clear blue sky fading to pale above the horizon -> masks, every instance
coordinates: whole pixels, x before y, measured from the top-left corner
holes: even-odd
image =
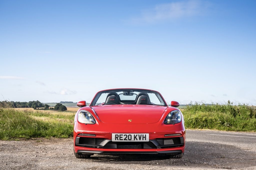
[[[167,102],[256,105],[256,1],[0,0],[0,100],[90,102],[145,88]]]

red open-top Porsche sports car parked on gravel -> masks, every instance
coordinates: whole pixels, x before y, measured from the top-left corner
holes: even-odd
[[[181,158],[185,150],[184,117],[162,95],[146,89],[99,91],[74,118],[74,154],[89,158],[100,153],[166,154]]]

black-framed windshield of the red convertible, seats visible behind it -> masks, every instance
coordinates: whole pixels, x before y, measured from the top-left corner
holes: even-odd
[[[140,89],[119,89],[101,91],[96,94],[91,106],[116,104],[165,106],[165,102],[158,92]]]

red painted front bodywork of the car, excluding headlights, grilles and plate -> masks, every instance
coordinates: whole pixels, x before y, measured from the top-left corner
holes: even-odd
[[[178,102],[174,104],[177,105],[177,103]],[[77,114],[80,110],[89,111],[94,117],[96,123],[86,125],[78,122]],[[111,139],[112,133],[149,133],[150,140],[156,138],[170,138],[164,137],[164,135],[180,133],[182,134],[182,137],[184,137],[185,142],[183,115],[180,123],[174,125],[164,124],[164,119],[173,110],[179,109],[172,106],[168,107],[158,105],[98,105],[82,107],[78,110],[74,118],[74,143],[79,133],[95,134],[97,138],[104,139]],[[131,119],[132,122],[129,122],[129,119]],[[183,147],[164,149],[98,149],[78,147],[74,145],[74,150],[75,152],[78,150],[111,152],[155,152],[182,150],[182,152],[184,152],[185,144]]]

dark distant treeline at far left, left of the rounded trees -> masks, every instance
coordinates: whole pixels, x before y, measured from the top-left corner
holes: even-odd
[[[29,101],[29,102],[14,102],[14,101],[0,101],[0,106],[2,107],[11,107],[11,108],[38,108],[45,107],[44,104],[37,101]]]

